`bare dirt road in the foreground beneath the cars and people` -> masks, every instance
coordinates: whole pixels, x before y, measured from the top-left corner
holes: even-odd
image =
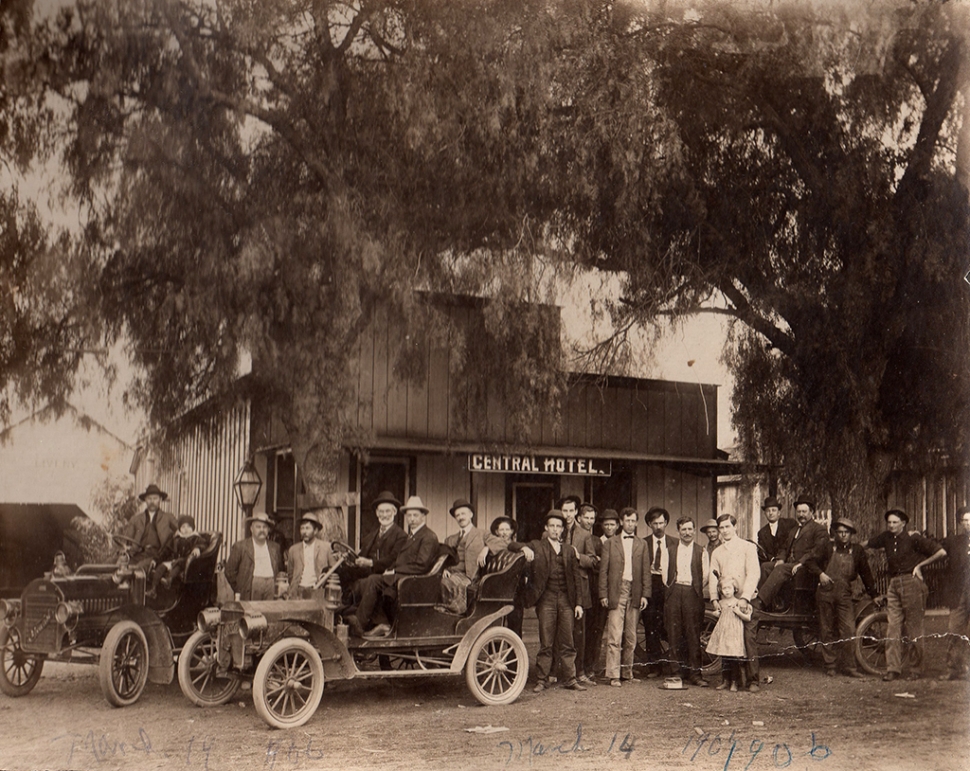
[[[931,619],[930,631],[942,623]],[[0,768],[970,769],[970,684],[937,681],[943,641],[927,648],[926,677],[893,683],[828,678],[776,650],[762,665],[773,682],[758,694],[663,691],[644,680],[578,694],[530,688],[515,704],[486,708],[462,678],[337,682],[313,719],[289,732],[268,728],[248,691],[203,710],[176,683],[150,685],[119,710],[102,698],[94,668],[48,666],[28,696],[0,696]],[[468,730],[489,726],[505,730]]]

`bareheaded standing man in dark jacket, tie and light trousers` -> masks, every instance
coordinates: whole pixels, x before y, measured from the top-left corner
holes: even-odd
[[[633,676],[633,649],[637,623],[650,599],[650,561],[647,545],[637,538],[640,515],[633,508],[621,512],[621,531],[609,538],[601,551],[600,605],[608,611],[606,677],[619,688],[621,680],[637,683]]]

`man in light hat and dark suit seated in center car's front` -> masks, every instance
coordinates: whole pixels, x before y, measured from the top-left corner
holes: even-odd
[[[428,522],[428,509],[417,495],[408,498],[401,511],[408,527],[407,540],[394,560],[394,564],[380,574],[370,575],[363,581],[360,604],[356,615],[347,616],[350,631],[358,637],[386,637],[390,624],[380,623],[367,631],[374,615],[384,600],[397,598],[397,582],[401,576],[419,576],[427,573],[438,557],[438,536]]]

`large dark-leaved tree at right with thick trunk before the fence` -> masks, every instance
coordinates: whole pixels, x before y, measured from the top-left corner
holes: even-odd
[[[621,323],[736,319],[746,457],[784,465],[836,513],[874,518],[894,466],[968,450],[965,16],[888,3],[681,11],[614,16],[577,107],[617,116],[591,151],[608,182],[569,225],[592,264],[625,275]],[[624,89],[649,94],[659,136],[643,135]]]

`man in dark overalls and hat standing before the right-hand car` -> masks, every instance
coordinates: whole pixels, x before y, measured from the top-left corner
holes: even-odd
[[[835,548],[818,577],[815,600],[818,604],[818,626],[822,638],[822,659],[825,673],[835,676],[836,668],[849,677],[862,677],[855,665],[852,638],[855,636],[855,606],[852,583],[861,578],[869,596],[879,593],[872,577],[866,550],[852,543],[855,523],[840,517],[832,524]]]

